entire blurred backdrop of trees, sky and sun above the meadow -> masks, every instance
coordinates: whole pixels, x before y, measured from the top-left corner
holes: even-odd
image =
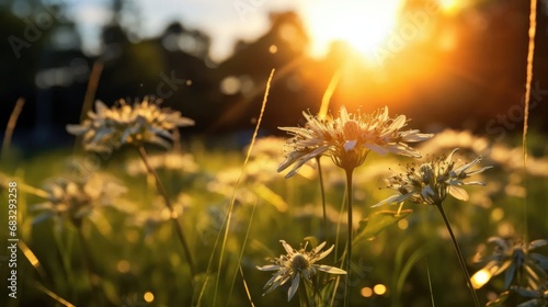
[[[388,105],[423,130],[499,140],[522,129],[527,1],[391,1],[391,16],[388,4],[355,1],[156,2],[1,1],[0,128],[23,96],[14,144],[70,144],[65,126],[80,118],[95,64],[95,99],[160,96],[196,121],[191,134],[252,129],[272,68],[265,134],[318,112],[335,75],[331,110]],[[544,132],[547,5],[538,3],[530,117]]]

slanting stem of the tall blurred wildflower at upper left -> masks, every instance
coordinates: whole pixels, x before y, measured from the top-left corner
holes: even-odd
[[[173,221],[173,226],[175,227],[175,231],[176,231],[176,235],[179,236],[179,240],[180,240],[181,245],[183,246],[183,250],[184,250],[184,254],[186,257],[186,261],[189,261],[189,266],[190,266],[190,270],[191,270],[192,281],[194,281],[194,276],[196,276],[196,270],[195,270],[195,266],[194,266],[194,262],[192,261],[191,249],[189,248],[189,243],[186,241],[186,238],[184,237],[183,228],[181,227],[181,224],[179,224],[178,214],[176,214],[175,209],[173,208],[173,205],[171,204],[170,198],[168,197],[168,193],[165,192],[165,187],[163,187],[163,184],[162,184],[162,182],[160,180],[160,177],[158,177],[158,173],[150,166],[150,163],[148,161],[148,156],[147,156],[147,151],[145,150],[145,147],[139,146],[137,149],[138,149],[139,155],[140,155],[140,157],[142,159],[142,162],[145,162],[145,166],[147,167],[147,171],[151,175],[155,177],[156,187],[157,187],[158,192],[160,193],[160,195],[163,197],[163,200],[165,202],[165,206],[170,211],[171,220]]]

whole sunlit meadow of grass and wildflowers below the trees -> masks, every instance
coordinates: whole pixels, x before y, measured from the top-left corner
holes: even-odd
[[[473,306],[442,202],[469,275],[486,269],[472,278],[481,284],[475,291],[481,306],[548,306],[540,133],[529,133],[524,171],[520,136],[493,141],[447,129],[401,147],[413,130],[400,132],[406,118],[383,118],[381,111],[309,114],[287,137],[254,136],[246,148],[224,148],[181,138],[192,121],[161,104],[132,121],[101,120],[102,107],[83,129],[68,128],[78,136],[75,148],[23,160],[14,149],[4,158],[2,202],[16,187],[20,241],[18,299],[2,296],[2,306]],[[357,125],[361,134],[349,138],[336,123]],[[395,138],[373,141],[365,132],[378,126]],[[330,133],[324,151],[315,151],[322,134],[311,132]],[[306,146],[297,148],[299,141]],[[296,161],[301,167],[292,169]],[[419,190],[397,185],[398,178]],[[373,207],[395,192],[403,197]],[[0,234],[8,238],[7,228]],[[272,262],[278,268],[265,266]],[[269,284],[281,270],[288,277]]]

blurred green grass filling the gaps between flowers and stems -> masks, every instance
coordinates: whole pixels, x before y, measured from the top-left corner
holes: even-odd
[[[529,141],[534,141],[532,148],[536,152],[544,146],[541,137],[532,136]],[[239,265],[255,306],[298,306],[298,298],[287,303],[287,287],[284,286],[263,297],[263,285],[271,275],[258,271],[255,266],[267,264],[265,259],[269,257],[285,253],[278,242],[281,239],[298,248],[306,237],[322,236],[322,208],[317,174],[312,169],[308,170],[312,178],[296,175],[284,179],[276,173],[275,168],[283,159],[283,148],[277,148],[278,160],[272,156],[256,156],[256,152],[251,155],[244,180],[236,191],[224,264],[217,275],[219,249],[213,249],[236,183],[235,175],[227,174],[241,170],[244,152],[206,149],[199,141],[187,148],[186,154],[192,154],[197,169],[159,169],[159,175],[170,198],[184,207],[180,221],[199,272],[194,282],[190,278],[190,268],[171,223],[165,220],[152,225],[136,221],[136,217],[161,216],[161,213],[151,212],[153,203],[159,202],[153,183],[146,174],[130,175],[125,168],[129,160],[138,159],[137,152],[117,151],[112,157],[100,160],[100,170],[115,175],[128,189],[124,200],[116,204],[118,208],[100,208],[93,218],[85,218],[82,226],[83,237],[90,247],[88,258],[101,280],[99,295],[104,296],[103,303],[147,306],[144,295],[150,292],[155,297],[150,306],[191,306],[198,298],[206,280],[208,261],[215,252],[202,306],[212,306],[215,295],[217,306],[250,306],[242,275],[238,273]],[[450,149],[444,152],[448,151]],[[159,152],[162,151],[151,156]],[[76,228],[67,221],[56,224],[54,220],[32,225],[38,213],[31,207],[44,200],[22,187],[23,183],[42,187],[45,180],[66,174],[66,166],[72,159],[70,150],[60,150],[24,161],[12,158],[10,163],[2,164],[2,172],[14,178],[12,180],[20,186],[19,238],[25,241],[45,272],[41,276],[20,250],[19,298],[13,300],[2,296],[2,306],[59,306],[43,289],[37,288],[35,283],[77,306],[102,306],[89,285]],[[399,171],[397,164],[404,164],[407,161],[409,160],[372,154],[365,164],[356,169],[354,212],[361,216],[358,220],[375,211],[397,209],[396,206],[376,209],[370,206],[390,195],[389,191],[378,189],[385,186],[384,178],[390,174],[388,167]],[[467,189],[471,195],[470,202],[444,202],[448,219],[468,260],[470,273],[481,268],[475,266],[469,260],[477,247],[483,245],[489,237],[512,234],[513,229],[514,235],[526,235],[529,240],[534,240],[546,238],[548,229],[548,178],[529,175],[527,179],[528,225],[524,229],[524,200],[509,195],[506,187],[520,186],[520,181],[516,181],[516,175],[509,171],[507,166],[495,164],[486,157],[482,164],[489,163],[493,163],[495,168],[484,172],[483,180],[488,186]],[[322,161],[329,216],[327,241],[328,247],[335,243],[339,235],[336,249],[340,258],[346,241],[346,226],[341,225],[340,232],[336,231],[338,220],[346,220],[345,212],[339,218],[339,211],[344,202],[344,172],[331,164],[328,159]],[[5,190],[2,190],[1,197],[7,200]],[[161,205],[158,207],[162,208]],[[406,204],[403,207],[413,209],[413,213],[402,223],[387,227],[374,238],[363,240],[353,248],[351,306],[413,307],[431,306],[432,302],[437,306],[470,306],[470,295],[439,213],[435,207],[423,205]],[[1,225],[8,225],[3,213]],[[0,230],[2,237],[8,235],[4,228],[2,226]],[[217,247],[220,247],[220,241]],[[546,250],[543,251],[546,253]],[[335,262],[334,257],[332,253],[321,263],[340,266],[340,261]],[[3,262],[1,264],[0,275],[4,283],[3,276],[7,276],[8,269]],[[215,294],[217,281],[218,292]],[[373,288],[377,284],[386,285],[387,293],[373,294],[372,297],[361,295],[363,288]],[[502,292],[502,284],[503,276],[493,277],[491,283],[478,291],[480,302],[484,304],[488,295]],[[233,291],[230,292],[232,287]],[[343,288],[339,292],[343,293]],[[342,304],[341,295],[336,295],[335,306]]]

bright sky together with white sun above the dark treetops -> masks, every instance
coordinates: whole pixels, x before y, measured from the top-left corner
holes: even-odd
[[[84,37],[84,50],[99,52],[101,26],[112,20],[111,0],[52,0],[68,4]],[[442,0],[439,0],[442,1]],[[443,0],[456,1],[456,0]],[[370,52],[395,26],[402,0],[133,0],[136,8],[123,18],[138,38],[157,36],[170,23],[180,21],[189,30],[212,37],[210,57],[230,56],[238,39],[253,41],[270,27],[269,13],[293,10],[311,34],[310,54],[321,57],[334,39],[354,43]]]

